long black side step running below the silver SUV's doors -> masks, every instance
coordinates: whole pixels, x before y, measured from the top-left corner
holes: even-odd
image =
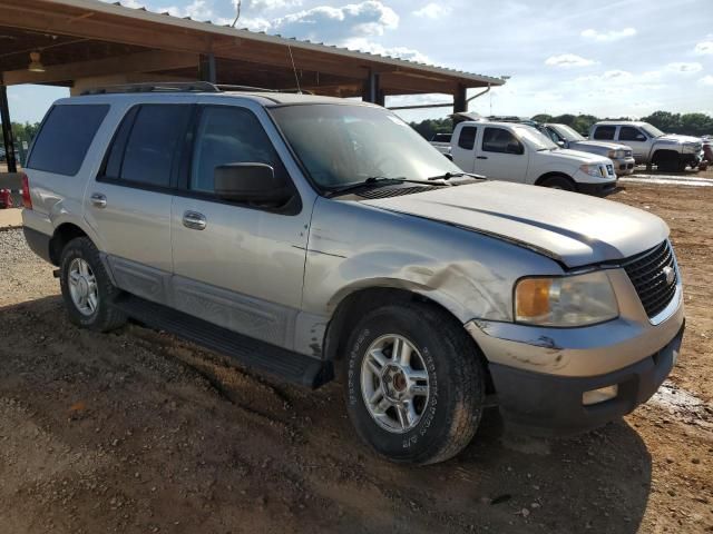
[[[113,306],[152,328],[169,332],[293,384],[315,389],[334,378],[331,362],[276,347],[140,297],[123,295]]]

